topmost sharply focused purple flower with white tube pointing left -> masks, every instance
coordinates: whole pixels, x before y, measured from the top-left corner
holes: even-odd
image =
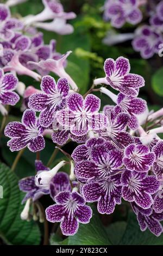
[[[104,78],[94,80],[95,84],[105,83],[120,91],[124,95],[138,95],[138,89],[145,86],[142,76],[131,74],[129,60],[124,57],[106,59],[104,63]]]

